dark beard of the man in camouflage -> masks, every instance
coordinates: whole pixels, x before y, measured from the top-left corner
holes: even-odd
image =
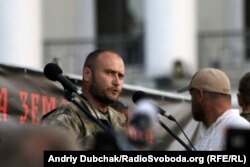
[[[105,92],[105,87],[103,87],[103,84],[98,82],[96,77],[93,75],[91,84],[90,84],[90,93],[92,94],[93,98],[97,101],[110,105],[114,103],[118,97],[109,97]]]

